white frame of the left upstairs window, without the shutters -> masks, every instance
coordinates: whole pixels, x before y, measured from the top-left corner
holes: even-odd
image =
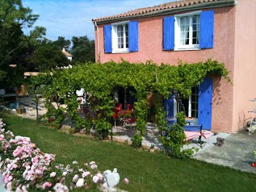
[[[129,52],[129,48],[125,48],[126,46],[125,27],[124,27],[124,48],[118,48],[118,36],[117,36],[117,26],[119,25],[125,26],[128,23],[129,21],[112,24],[112,53]]]

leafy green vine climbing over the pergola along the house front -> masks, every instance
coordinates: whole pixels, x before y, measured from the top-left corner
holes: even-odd
[[[113,98],[111,93],[115,87],[134,87],[136,90],[136,141],[135,146],[140,146],[141,138],[145,134],[147,121],[147,97],[149,92],[158,95],[158,98],[168,98],[170,90],[176,90],[187,98],[191,94],[191,87],[198,86],[204,77],[215,74],[228,77],[228,71],[223,63],[208,60],[195,64],[187,64],[179,61],[178,65],[156,65],[152,61],[144,63],[129,63],[110,61],[104,64],[88,63],[75,65],[73,69],[61,69],[52,71],[51,75],[41,81],[47,84],[48,116],[51,115],[50,102],[53,98],[61,98],[67,107],[58,108],[58,111],[68,113],[77,127],[85,127],[94,124],[96,131],[104,136],[111,127],[111,115],[113,115]],[[50,76],[50,77],[49,77]],[[50,81],[48,81],[50,79]],[[94,118],[82,119],[76,112],[79,102],[76,90],[84,88],[91,97],[86,98],[90,102],[90,111],[94,112]],[[166,127],[165,115],[162,110],[161,99],[157,100],[157,126]],[[62,113],[62,114],[63,114]],[[55,115],[59,114],[55,111]],[[63,119],[61,117],[60,119]],[[90,127],[89,127],[90,128]],[[139,140],[139,142],[137,142]],[[134,142],[135,143],[135,142]]]

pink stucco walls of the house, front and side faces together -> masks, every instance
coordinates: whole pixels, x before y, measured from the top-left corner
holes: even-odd
[[[246,20],[246,3],[250,0],[239,0],[237,6],[216,8],[214,15],[214,48],[197,51],[163,51],[162,50],[162,19],[163,16],[137,19],[139,21],[139,52],[105,54],[103,46],[103,25],[99,25],[99,58],[100,62],[120,61],[121,58],[130,62],[145,62],[152,60],[157,64],[177,65],[178,60],[187,63],[207,61],[209,58],[225,63],[230,71],[229,77],[233,85],[224,78],[213,78],[213,98],[212,98],[212,131],[234,132],[244,125],[248,118],[246,112],[252,106],[248,103],[249,98],[256,98],[256,93],[248,90],[252,89],[253,74],[251,67],[255,61],[255,38],[252,39],[255,31],[253,28],[244,28],[251,25],[256,18],[255,6],[250,6],[250,20]],[[253,1],[254,2],[254,1]],[[256,2],[256,1],[255,1]],[[251,3],[253,4],[253,3]],[[255,3],[254,3],[255,4]],[[242,16],[240,16],[242,15]],[[235,20],[237,19],[237,20]],[[95,37],[96,35],[95,28]],[[255,35],[255,34],[254,34]],[[97,56],[97,38],[96,58]],[[252,42],[254,40],[254,43]],[[235,43],[236,42],[236,43]],[[248,51],[250,44],[251,50]],[[236,56],[235,56],[236,54]],[[234,68],[236,68],[234,70]],[[256,69],[253,67],[254,70]],[[241,73],[244,72],[244,73]],[[249,74],[250,75],[247,75]],[[246,92],[246,94],[245,94]],[[255,115],[256,116],[256,115]],[[241,121],[243,123],[241,123]]]

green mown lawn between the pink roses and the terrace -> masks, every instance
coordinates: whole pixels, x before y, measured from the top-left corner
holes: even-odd
[[[99,170],[117,168],[120,180],[128,177],[128,191],[256,191],[256,175],[193,159],[178,160],[162,152],[134,149],[90,136],[72,136],[36,121],[0,112],[6,129],[29,136],[43,152],[56,154],[57,162],[96,161]]]

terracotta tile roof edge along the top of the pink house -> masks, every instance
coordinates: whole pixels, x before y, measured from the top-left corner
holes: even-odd
[[[166,2],[164,4],[158,5],[158,6],[149,6],[145,8],[140,8],[136,10],[129,10],[128,12],[119,14],[119,15],[111,15],[101,18],[92,19],[93,22],[97,21],[103,21],[108,19],[119,19],[119,18],[125,18],[130,16],[139,16],[139,15],[145,15],[149,12],[157,11],[157,10],[171,10],[174,8],[185,8],[187,6],[193,6],[195,4],[200,3],[210,3],[210,2],[231,2],[235,3],[235,0],[181,0],[176,2]]]

